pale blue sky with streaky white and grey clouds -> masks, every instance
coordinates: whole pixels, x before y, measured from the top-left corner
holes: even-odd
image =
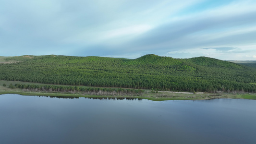
[[[256,0],[0,0],[0,56],[256,60]]]

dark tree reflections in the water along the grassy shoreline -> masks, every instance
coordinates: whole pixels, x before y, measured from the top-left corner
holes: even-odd
[[[40,97],[40,96],[38,96]],[[79,96],[44,96],[50,98],[66,98],[66,99],[78,99]],[[88,99],[99,99],[99,100],[142,100],[142,98],[135,98],[135,97],[85,97]]]

